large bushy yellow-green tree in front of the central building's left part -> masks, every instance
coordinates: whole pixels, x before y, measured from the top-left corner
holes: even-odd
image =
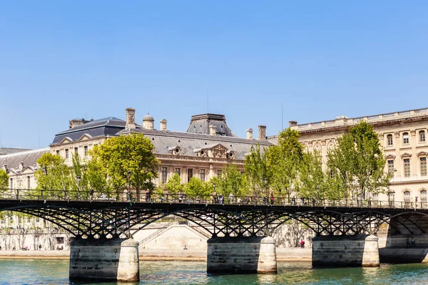
[[[95,175],[93,172],[98,169],[101,172],[98,178],[105,177],[108,188],[116,195],[125,190],[129,182],[136,189],[137,199],[140,199],[141,190],[158,177],[159,161],[153,150],[153,143],[143,134],[110,138],[90,152],[89,165],[95,168],[91,169],[91,175]]]

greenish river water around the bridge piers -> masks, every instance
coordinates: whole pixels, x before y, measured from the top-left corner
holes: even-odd
[[[310,263],[279,262],[278,274],[208,275],[205,262],[141,261],[135,284],[428,284],[428,264],[377,268],[313,269]],[[91,284],[68,281],[66,260],[0,260],[0,284]],[[113,283],[97,283],[119,284]],[[130,284],[130,283],[124,283]],[[133,285],[133,283],[131,283]]]

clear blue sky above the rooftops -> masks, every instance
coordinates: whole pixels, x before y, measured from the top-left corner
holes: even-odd
[[[126,3],[123,3],[126,2]],[[3,146],[136,108],[236,135],[427,108],[428,1],[2,1]],[[257,132],[255,132],[257,135]],[[40,139],[39,139],[40,138]]]

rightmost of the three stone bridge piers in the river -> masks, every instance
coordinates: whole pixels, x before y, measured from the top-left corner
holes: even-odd
[[[314,237],[312,266],[379,266],[377,237],[367,234]]]

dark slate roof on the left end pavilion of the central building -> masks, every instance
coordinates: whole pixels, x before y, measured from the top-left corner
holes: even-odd
[[[125,128],[126,121],[116,117],[92,120],[89,123],[78,125],[72,129],[64,130],[55,135],[51,145],[60,143],[64,138],[71,141],[80,139],[83,135],[90,135],[91,138],[116,135]]]

